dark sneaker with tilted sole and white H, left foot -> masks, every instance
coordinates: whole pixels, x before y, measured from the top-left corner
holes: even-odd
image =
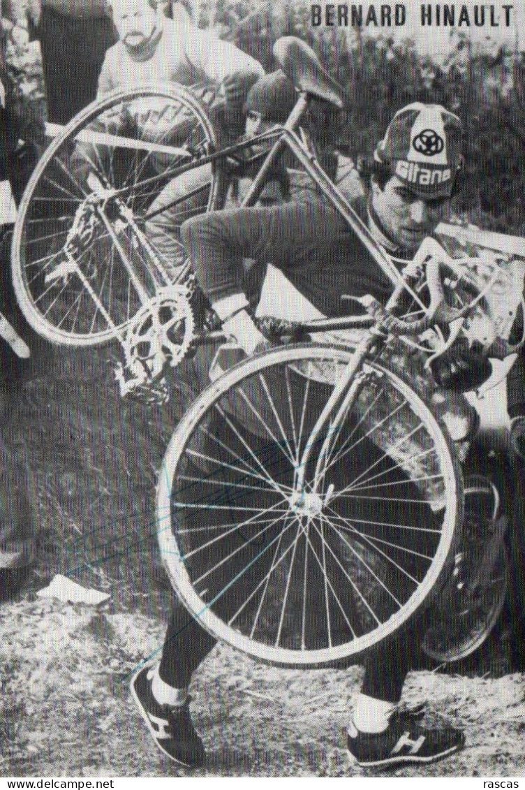
[[[204,763],[202,741],[189,715],[189,700],[184,705],[160,705],[152,693],[153,668],[146,666],[133,675],[129,687],[141,717],[160,751],[186,768]]]

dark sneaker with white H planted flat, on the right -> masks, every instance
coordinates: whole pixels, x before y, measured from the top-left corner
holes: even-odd
[[[463,747],[463,732],[452,727],[426,730],[411,713],[393,713],[383,732],[348,728],[348,752],[359,766],[395,766],[400,762],[433,762]]]

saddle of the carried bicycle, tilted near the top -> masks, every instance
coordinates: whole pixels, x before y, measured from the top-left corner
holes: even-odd
[[[284,36],[273,45],[273,55],[299,90],[341,109],[342,88],[327,74],[311,47],[295,36]]]

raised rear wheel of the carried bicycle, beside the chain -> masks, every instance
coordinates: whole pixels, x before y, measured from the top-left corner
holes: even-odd
[[[215,145],[201,105],[182,88],[119,93],[66,126],[28,183],[13,235],[13,281],[37,332],[64,344],[103,342],[158,287],[184,276],[177,226],[214,207],[211,167],[178,202],[169,234],[155,201],[165,174]]]

